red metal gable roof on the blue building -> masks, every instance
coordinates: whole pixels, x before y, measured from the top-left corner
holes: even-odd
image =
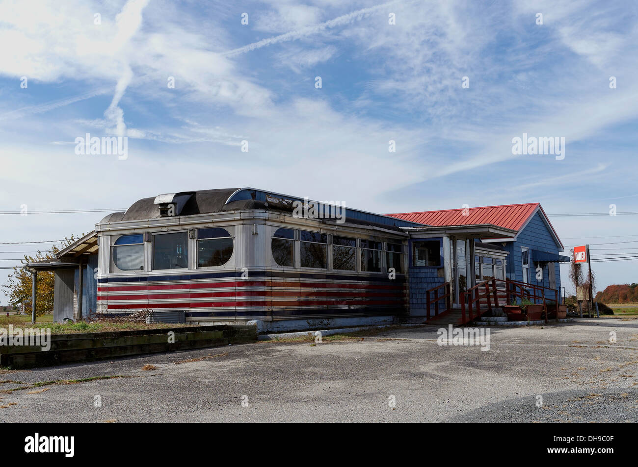
[[[520,233],[537,212],[540,213],[540,217],[547,226],[547,230],[551,236],[553,236],[554,241],[556,241],[556,245],[558,245],[561,250],[565,249],[560,238],[558,238],[558,234],[556,234],[554,227],[551,222],[549,222],[549,219],[547,219],[547,215],[545,214],[542,206],[540,206],[540,203],[480,206],[477,208],[468,208],[467,210],[460,208],[441,211],[406,212],[389,214],[389,216],[436,227],[493,224],[494,226],[503,227],[504,229],[512,229]],[[516,237],[508,240],[516,240]],[[498,241],[501,241],[501,239],[498,239]]]

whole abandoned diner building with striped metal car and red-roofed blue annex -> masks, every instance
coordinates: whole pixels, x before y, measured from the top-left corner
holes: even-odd
[[[144,198],[25,267],[54,272],[56,322],[151,310],[260,332],[450,313],[463,324],[516,294],[562,301],[558,263],[570,258],[538,203],[392,215],[325,205],[323,216],[299,215],[300,203],[323,206],[252,188]]]

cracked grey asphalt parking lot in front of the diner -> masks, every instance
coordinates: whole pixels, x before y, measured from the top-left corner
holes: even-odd
[[[487,351],[437,337],[413,327],[2,371],[0,421],[638,421],[638,320],[491,327]]]

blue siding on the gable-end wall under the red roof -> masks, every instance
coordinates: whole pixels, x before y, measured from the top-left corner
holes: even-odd
[[[554,241],[549,228],[545,225],[540,214],[537,212],[528,222],[527,226],[518,234],[516,241],[506,243],[505,250],[509,252],[507,256],[507,277],[513,280],[523,280],[523,258],[521,247],[530,248],[530,284],[549,287],[549,274],[547,267],[553,267],[556,271],[556,289],[560,290],[560,268],[557,263],[549,263],[543,266],[543,279],[536,279],[536,268],[534,255],[531,250],[540,250],[558,254],[558,245]],[[551,296],[550,296],[551,295]],[[554,294],[547,294],[549,299],[554,299]]]

